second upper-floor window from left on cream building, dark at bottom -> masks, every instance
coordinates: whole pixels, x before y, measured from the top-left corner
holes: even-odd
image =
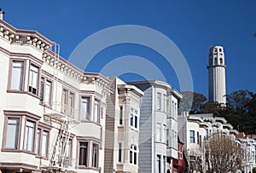
[[[37,66],[30,66],[28,91],[34,95],[38,94],[38,71],[39,68]]]

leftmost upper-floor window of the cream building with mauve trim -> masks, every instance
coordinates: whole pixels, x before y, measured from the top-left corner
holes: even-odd
[[[23,61],[13,61],[10,89],[22,90],[23,68],[24,68]]]

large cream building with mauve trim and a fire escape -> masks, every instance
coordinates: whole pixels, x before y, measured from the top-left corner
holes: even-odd
[[[0,20],[3,173],[104,170],[109,79],[81,71],[58,48]]]

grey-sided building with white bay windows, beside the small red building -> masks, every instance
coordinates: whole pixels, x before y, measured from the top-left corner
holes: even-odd
[[[139,121],[138,172],[172,172],[177,159],[177,104],[182,95],[158,80],[128,84],[143,90]]]

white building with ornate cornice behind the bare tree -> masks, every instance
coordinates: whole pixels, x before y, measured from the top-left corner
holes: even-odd
[[[203,151],[203,139],[216,134],[225,134],[236,140],[237,130],[225,118],[213,117],[212,113],[178,115],[178,136],[184,143],[185,155],[189,159],[189,170],[195,170],[197,156]]]

